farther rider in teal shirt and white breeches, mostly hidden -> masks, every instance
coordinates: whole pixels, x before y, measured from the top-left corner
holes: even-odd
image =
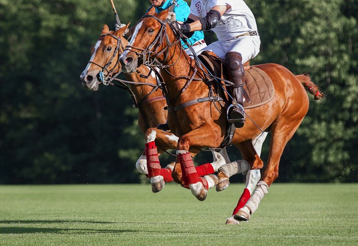
[[[152,3],[152,6],[155,7],[155,11],[157,13],[170,8],[174,3],[174,9],[170,11],[175,13],[175,19],[180,24],[185,23],[188,19],[188,15],[190,14],[190,7],[184,0],[150,0],[150,2]],[[187,42],[191,45],[195,52],[206,47],[203,31],[194,32],[193,35],[187,39]],[[189,47],[183,41],[181,41],[181,45],[187,54],[192,54]]]

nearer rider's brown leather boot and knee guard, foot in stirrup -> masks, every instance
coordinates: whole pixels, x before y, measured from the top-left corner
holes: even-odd
[[[233,83],[230,86],[234,100],[228,108],[228,122],[234,123],[236,128],[240,128],[245,122],[244,111],[244,84],[245,84],[245,70],[242,64],[241,54],[230,51],[225,55],[225,61],[228,68],[230,80]]]

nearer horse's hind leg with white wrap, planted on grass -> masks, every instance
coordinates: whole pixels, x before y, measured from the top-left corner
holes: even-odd
[[[292,138],[293,134],[296,132],[305,114],[303,114],[302,117],[300,116],[302,116],[300,112],[298,112],[296,117],[283,118],[281,116],[281,119],[277,119],[276,122],[272,125],[267,166],[263,171],[261,181],[257,183],[257,187],[253,195],[234,215],[235,220],[249,221],[250,216],[255,213],[264,195],[268,193],[269,186],[279,176],[280,158],[283,149],[287,142]]]

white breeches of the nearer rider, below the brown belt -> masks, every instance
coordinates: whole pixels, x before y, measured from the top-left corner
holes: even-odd
[[[254,58],[260,51],[259,36],[242,36],[230,41],[216,41],[206,46],[204,50],[213,51],[217,56],[225,59],[226,53],[230,51],[239,52],[242,56],[242,63]]]

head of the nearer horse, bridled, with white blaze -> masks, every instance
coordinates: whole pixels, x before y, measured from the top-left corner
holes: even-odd
[[[166,23],[168,13],[169,9],[155,13],[155,8],[152,7],[138,21],[129,45],[120,57],[123,72],[133,73],[142,64],[153,67],[158,61],[163,62],[163,57],[168,57],[164,53],[168,52],[168,47],[173,46],[170,40],[175,40]],[[174,43],[180,43],[180,39],[177,38]]]

